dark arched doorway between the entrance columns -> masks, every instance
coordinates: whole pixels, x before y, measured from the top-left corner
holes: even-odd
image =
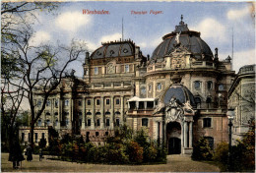
[[[166,127],[168,154],[181,153],[181,126],[178,122],[169,122]]]

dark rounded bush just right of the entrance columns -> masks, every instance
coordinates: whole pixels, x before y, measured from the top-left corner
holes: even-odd
[[[194,160],[212,160],[213,150],[209,146],[209,142],[201,138],[193,146],[192,159]]]

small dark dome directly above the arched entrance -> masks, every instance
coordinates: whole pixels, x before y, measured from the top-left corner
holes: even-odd
[[[191,106],[196,106],[193,94],[183,85],[173,84],[171,87],[167,88],[163,93],[163,103],[168,104],[172,97],[175,97],[181,103],[190,101]]]

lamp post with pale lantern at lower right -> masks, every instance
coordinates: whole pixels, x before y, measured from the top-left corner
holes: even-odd
[[[231,147],[232,147],[232,120],[234,117],[234,109],[228,109],[226,112],[226,116],[228,118],[228,127],[229,127],[229,133],[228,133],[228,160],[227,160],[227,169],[230,170],[230,161],[231,161]]]

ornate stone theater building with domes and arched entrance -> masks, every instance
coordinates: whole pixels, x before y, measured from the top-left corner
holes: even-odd
[[[212,147],[227,142],[227,91],[235,77],[230,58],[219,60],[218,48],[213,54],[182,19],[151,57],[130,39],[111,41],[87,53],[83,67],[82,79],[65,79],[52,93],[37,127],[104,144],[126,124],[143,128],[170,154],[191,154],[202,137]],[[38,107],[40,99],[38,89]]]

